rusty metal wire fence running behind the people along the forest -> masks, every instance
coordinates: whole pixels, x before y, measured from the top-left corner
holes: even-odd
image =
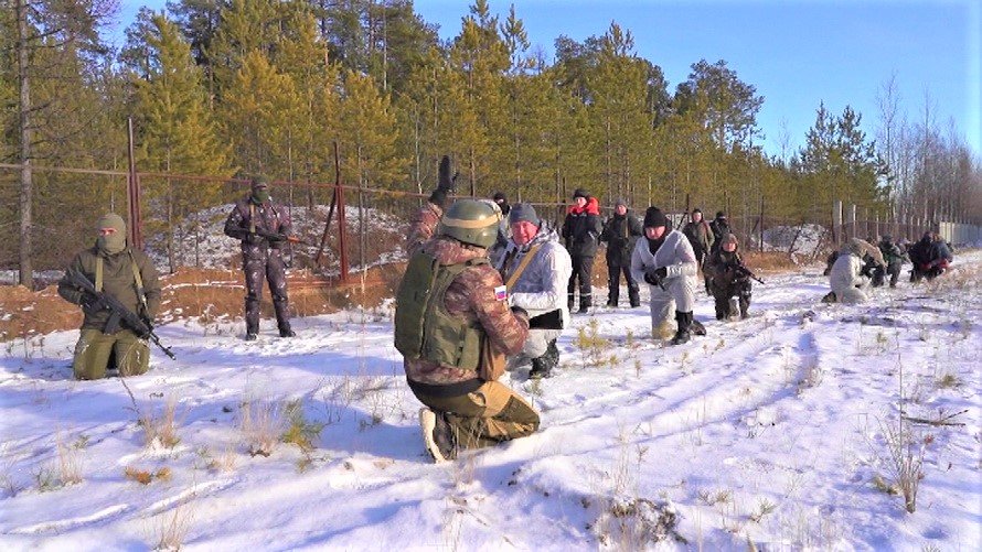
[[[4,197],[18,197],[19,171],[20,165],[0,165],[0,194]],[[139,191],[136,215],[128,204],[134,177]],[[561,196],[574,187],[529,186],[520,197],[510,199],[532,203],[542,218],[558,228],[572,203],[572,197]],[[349,271],[363,271],[403,259],[408,223],[427,197],[408,190],[299,181],[274,181],[270,192],[289,214],[293,232],[306,242],[287,250],[291,266],[339,280]],[[485,192],[484,197],[490,197],[495,191]],[[226,237],[223,227],[234,203],[248,193],[248,182],[236,178],[35,166],[31,261],[42,274],[64,269],[75,252],[94,243],[96,220],[106,213],[117,213],[128,223],[134,218],[141,221],[139,235],[143,249],[163,272],[174,273],[183,268],[237,268],[242,262],[238,242]],[[709,197],[682,196],[671,188],[640,191],[633,196],[628,194],[625,199],[632,214],[642,218],[649,197],[650,203],[670,214],[676,228],[687,221],[687,213],[694,206],[702,207],[706,220],[717,210],[725,210],[722,206],[714,207]],[[727,213],[730,228],[745,250],[782,251],[805,258],[816,258],[852,236],[875,239],[890,234],[914,240],[924,230],[938,229],[937,225],[924,221],[900,224],[878,219],[846,220],[836,229],[830,224],[831,215],[790,220],[770,216],[765,203],[750,197],[730,198],[728,203],[735,204]],[[601,206],[606,219],[613,206],[602,198]],[[344,232],[339,226],[342,218]],[[0,228],[8,238],[0,240],[0,270],[8,272],[19,266],[18,202],[3,202],[0,206]],[[15,283],[9,275],[3,281]]]

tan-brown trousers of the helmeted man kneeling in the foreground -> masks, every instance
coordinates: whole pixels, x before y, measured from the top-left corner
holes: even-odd
[[[538,430],[538,413],[517,393],[498,381],[485,381],[473,392],[435,397],[414,390],[419,402],[445,412],[457,446],[482,448],[524,437]]]

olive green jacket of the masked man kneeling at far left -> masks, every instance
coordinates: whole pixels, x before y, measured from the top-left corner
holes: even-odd
[[[103,259],[103,291],[116,297],[127,309],[142,314],[152,320],[160,309],[160,281],[157,278],[157,269],[147,253],[139,249],[127,247],[116,255],[108,255],[98,247],[85,249],[75,256],[68,270],[77,270],[85,274],[93,283],[96,283],[97,260]],[[137,282],[134,277],[134,263],[140,273],[143,284],[143,297],[147,301],[147,310],[143,311],[140,299],[137,296]],[[77,288],[62,279],[58,282],[58,295],[65,301],[81,304],[83,293]],[[83,309],[85,320],[82,329],[98,329],[102,332],[109,320],[109,312],[87,312]]]

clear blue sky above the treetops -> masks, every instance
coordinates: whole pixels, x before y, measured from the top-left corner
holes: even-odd
[[[125,25],[139,6],[163,1],[120,3]],[[821,101],[835,115],[852,106],[873,138],[876,98],[892,77],[908,119],[922,120],[929,105],[942,129],[952,120],[974,153],[982,153],[978,1],[490,0],[502,20],[511,3],[533,47],[549,57],[558,35],[581,41],[617,21],[633,34],[638,54],[662,67],[670,93],[693,63],[725,59],[765,97],[758,126],[771,154],[781,153],[783,134],[792,151],[803,143]],[[415,2],[444,39],[459,32],[468,4]]]

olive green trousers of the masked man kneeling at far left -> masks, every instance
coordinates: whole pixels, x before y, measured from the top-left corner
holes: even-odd
[[[120,329],[115,334],[83,329],[75,345],[75,359],[72,362],[75,378],[105,378],[110,357],[120,376],[138,376],[150,369],[150,348],[147,342],[129,329]]]

